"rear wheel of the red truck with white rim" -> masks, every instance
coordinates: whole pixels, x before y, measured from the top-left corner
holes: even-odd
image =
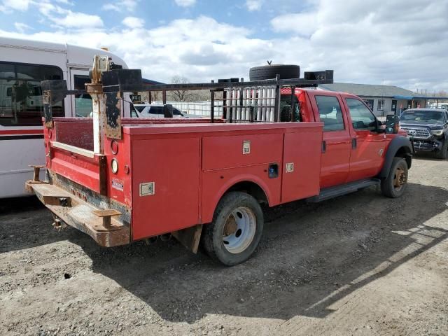
[[[263,214],[257,200],[241,192],[223,196],[213,221],[204,225],[202,246],[207,254],[226,266],[251,257],[260,242]]]

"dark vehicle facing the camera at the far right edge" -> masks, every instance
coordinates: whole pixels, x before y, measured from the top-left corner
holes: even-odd
[[[408,109],[400,116],[400,127],[414,139],[415,151],[434,152],[437,158],[447,158],[447,110]]]

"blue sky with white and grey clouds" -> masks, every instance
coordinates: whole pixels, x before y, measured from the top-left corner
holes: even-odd
[[[448,0],[0,0],[0,19],[1,36],[106,46],[166,83],[248,78],[269,59],[448,90]]]

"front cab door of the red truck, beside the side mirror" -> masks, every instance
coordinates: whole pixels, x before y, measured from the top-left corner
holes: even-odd
[[[386,136],[378,133],[378,120],[356,97],[344,97],[349,111],[351,132],[350,172],[348,182],[376,176],[384,161]]]

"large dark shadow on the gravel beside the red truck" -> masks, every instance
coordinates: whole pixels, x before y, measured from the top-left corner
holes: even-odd
[[[258,252],[230,268],[175,241],[110,249],[89,239],[77,244],[94,272],[167,321],[192,323],[205,314],[323,317],[338,300],[447,239],[448,230],[426,223],[447,210],[447,201],[448,190],[409,183],[407,195],[395,200],[369,188],[269,209]]]

